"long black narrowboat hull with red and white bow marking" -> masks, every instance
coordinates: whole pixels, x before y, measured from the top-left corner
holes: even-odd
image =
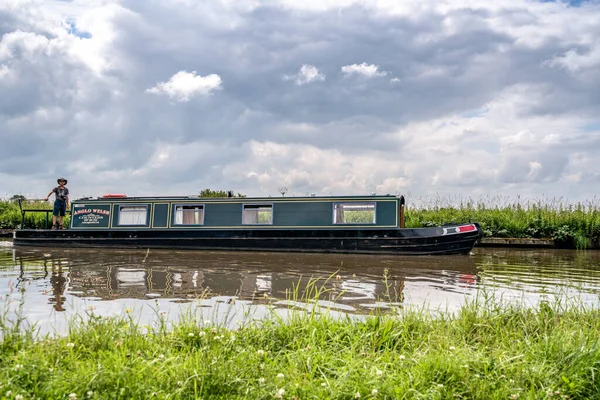
[[[71,248],[448,255],[468,254],[473,249],[481,229],[477,224],[471,225],[476,229],[452,234],[448,234],[452,226],[376,230],[18,230],[14,232],[13,243],[16,246]]]

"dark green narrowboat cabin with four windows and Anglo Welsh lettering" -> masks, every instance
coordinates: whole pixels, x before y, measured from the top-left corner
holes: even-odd
[[[70,228],[315,229],[404,227],[404,197],[128,197],[110,194],[71,204]]]

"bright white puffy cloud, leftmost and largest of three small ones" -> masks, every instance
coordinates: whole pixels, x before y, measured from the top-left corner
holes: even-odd
[[[152,94],[166,94],[169,98],[180,102],[189,101],[197,95],[208,96],[221,89],[221,77],[216,74],[196,75],[196,71],[179,71],[167,82],[159,82],[146,89]]]

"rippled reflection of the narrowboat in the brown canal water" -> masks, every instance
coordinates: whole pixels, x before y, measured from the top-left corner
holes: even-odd
[[[472,257],[194,251],[10,249],[20,284],[65,311],[69,298],[220,299],[273,303],[311,298],[344,312],[461,299],[477,283]],[[1,260],[0,260],[1,262]],[[6,262],[5,262],[6,264]],[[28,291],[31,291],[29,289]],[[279,301],[280,303],[277,303]],[[462,302],[462,301],[461,301]],[[38,307],[44,307],[38,304]],[[41,311],[41,310],[40,310]]]

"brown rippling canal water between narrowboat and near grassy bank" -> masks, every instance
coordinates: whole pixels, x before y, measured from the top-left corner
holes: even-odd
[[[455,311],[476,296],[600,303],[600,252],[475,248],[469,256],[17,248],[0,242],[0,304],[42,332],[90,314],[144,324],[190,312],[235,326],[290,308],[360,316]],[[311,308],[312,309],[312,308]]]

